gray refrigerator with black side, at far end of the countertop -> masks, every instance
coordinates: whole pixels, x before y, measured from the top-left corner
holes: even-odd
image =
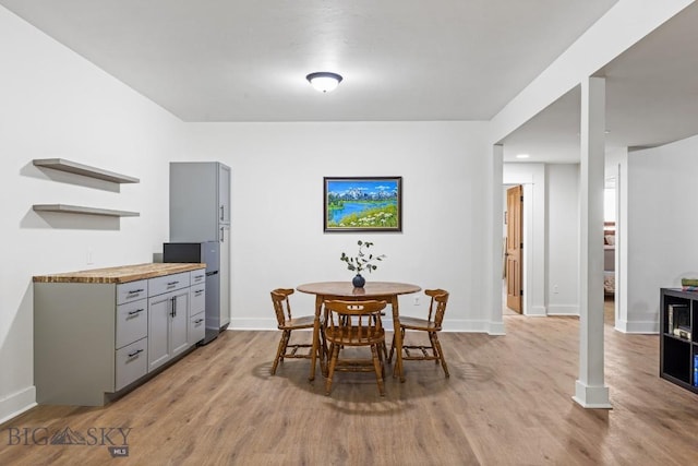
[[[220,244],[218,241],[166,242],[163,244],[163,262],[206,264],[206,336],[205,345],[218,336],[220,322]]]

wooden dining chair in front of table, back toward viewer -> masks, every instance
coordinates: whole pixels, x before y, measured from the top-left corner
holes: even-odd
[[[327,311],[325,338],[329,344],[329,370],[325,384],[327,395],[332,391],[335,371],[345,371],[375,372],[378,393],[381,396],[385,396],[382,351],[382,347],[385,345],[385,331],[381,321],[381,311],[386,306],[385,301],[375,300],[325,301],[325,310]],[[340,351],[363,346],[371,348],[371,359],[339,358]]]

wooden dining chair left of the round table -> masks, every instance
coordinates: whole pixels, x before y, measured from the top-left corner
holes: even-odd
[[[276,350],[276,358],[274,358],[274,365],[272,366],[272,375],[276,373],[276,368],[279,361],[284,362],[285,358],[303,358],[311,359],[312,353],[312,330],[314,315],[303,315],[300,318],[293,318],[291,315],[291,304],[288,297],[293,294],[293,289],[290,288],[277,288],[272,291],[272,302],[274,302],[274,312],[276,313],[276,320],[278,322],[278,328],[281,331],[281,339],[279,340],[278,349]],[[291,332],[294,330],[310,330],[311,332],[303,332],[308,334],[310,343],[296,343],[290,344]],[[299,349],[308,349],[308,353],[300,351]]]

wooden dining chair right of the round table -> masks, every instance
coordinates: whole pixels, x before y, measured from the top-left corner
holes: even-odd
[[[426,319],[400,316],[402,360],[430,360],[436,363],[441,362],[441,367],[444,369],[446,377],[450,377],[448,373],[448,365],[446,365],[446,359],[444,358],[444,350],[441,347],[441,342],[438,342],[438,332],[441,332],[441,325],[444,321],[444,313],[446,312],[446,304],[448,302],[448,291],[444,289],[425,289],[424,294],[431,298]],[[408,345],[405,342],[406,331],[426,332],[429,345]],[[393,344],[390,345],[388,362],[393,360],[394,351],[395,335],[393,336]]]

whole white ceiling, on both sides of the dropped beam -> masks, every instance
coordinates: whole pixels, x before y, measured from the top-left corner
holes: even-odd
[[[0,0],[184,121],[489,120],[617,0]],[[698,7],[609,63],[607,147],[698,134]],[[304,76],[345,80],[320,94]],[[579,159],[579,89],[504,141]]]

